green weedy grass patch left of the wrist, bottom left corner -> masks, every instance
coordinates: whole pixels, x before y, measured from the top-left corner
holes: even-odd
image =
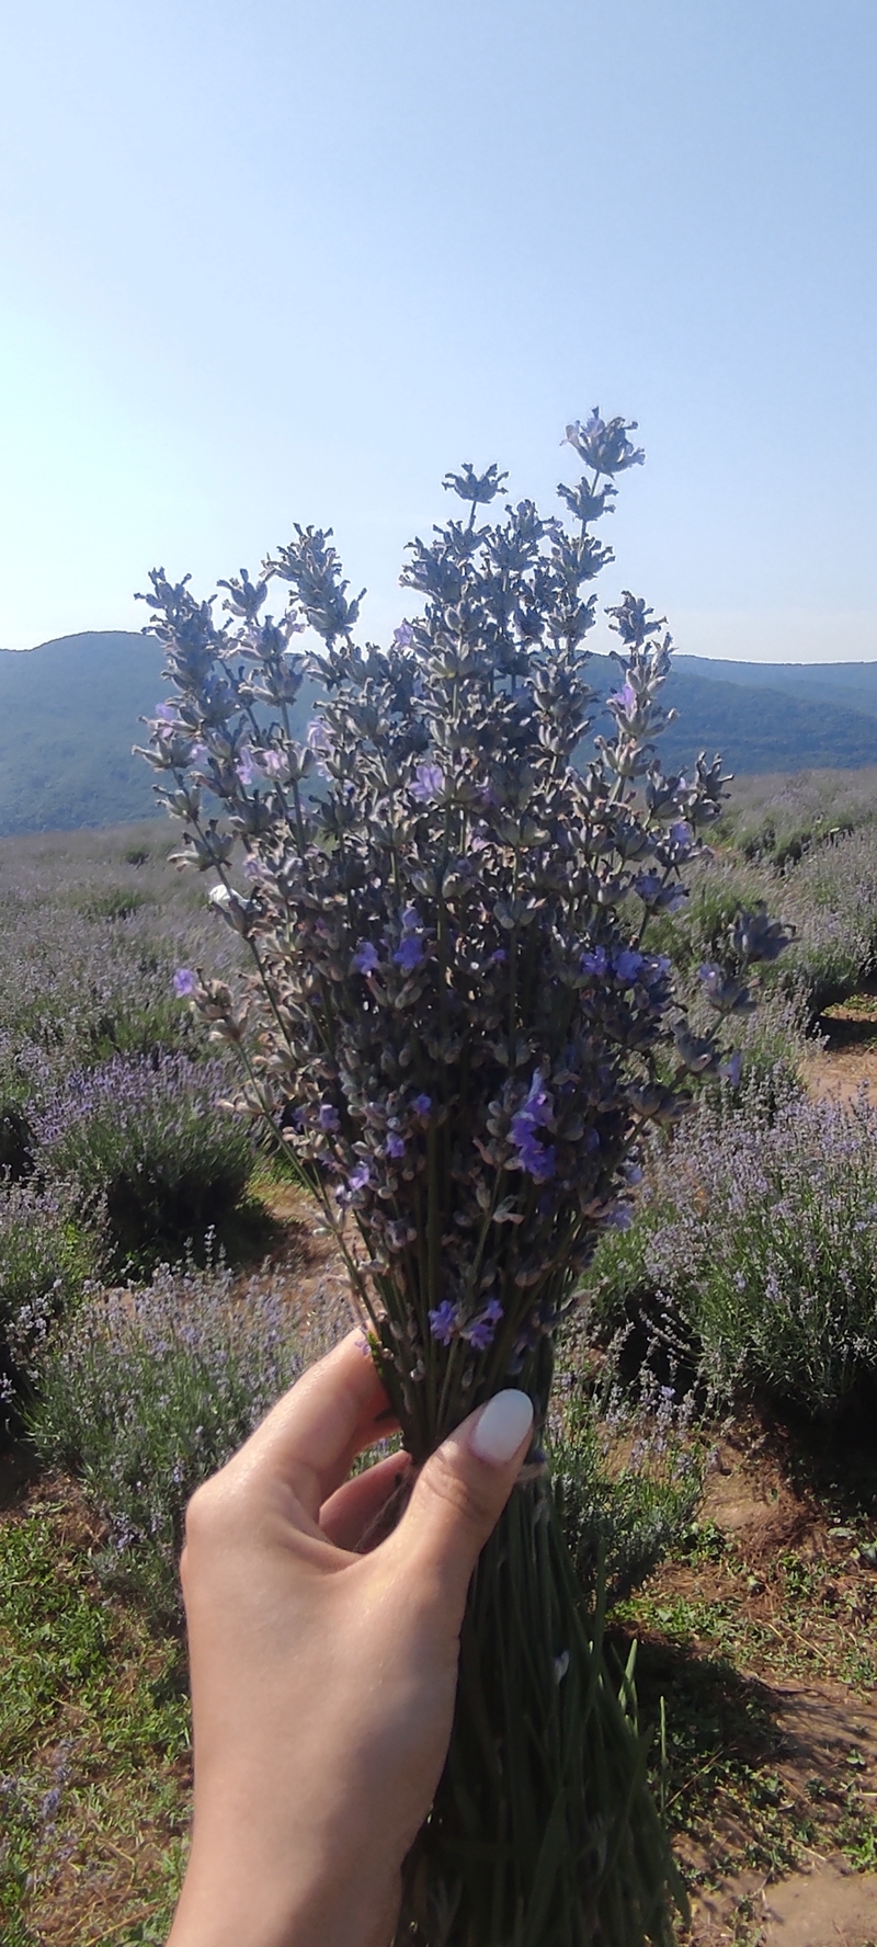
[[[62,1482],[0,1523],[4,1947],[37,1947],[49,1916],[64,1947],[164,1941],[179,1887],[183,1653],[105,1597],[95,1538]]]

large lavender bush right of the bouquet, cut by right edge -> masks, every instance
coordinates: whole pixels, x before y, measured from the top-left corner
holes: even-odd
[[[731,1398],[836,1412],[877,1377],[877,1112],[778,1088],[702,1100],[655,1143],[626,1236],[592,1267],[604,1320],[663,1314]]]

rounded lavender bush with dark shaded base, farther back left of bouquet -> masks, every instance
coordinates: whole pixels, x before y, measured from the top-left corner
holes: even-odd
[[[103,1199],[117,1267],[179,1256],[240,1203],[253,1141],[218,1108],[222,1075],[181,1055],[115,1055],[74,1071],[39,1118],[39,1168]]]

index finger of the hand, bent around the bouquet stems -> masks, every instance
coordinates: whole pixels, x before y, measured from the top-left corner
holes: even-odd
[[[316,1521],[355,1454],[396,1431],[362,1328],[349,1332],[277,1402],[249,1437],[248,1464],[283,1478]]]

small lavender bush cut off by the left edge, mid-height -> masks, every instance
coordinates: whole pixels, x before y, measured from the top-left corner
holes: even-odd
[[[68,1190],[0,1186],[0,1425],[27,1390],[51,1322],[74,1306],[99,1258],[95,1213],[92,1225],[78,1223]]]

